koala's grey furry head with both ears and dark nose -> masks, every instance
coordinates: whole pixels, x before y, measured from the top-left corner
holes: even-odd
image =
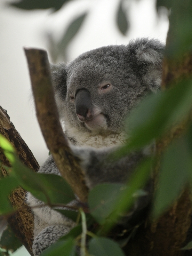
[[[158,40],[137,39],[52,65],[61,118],[80,131],[121,131],[131,109],[160,88],[163,51]]]

